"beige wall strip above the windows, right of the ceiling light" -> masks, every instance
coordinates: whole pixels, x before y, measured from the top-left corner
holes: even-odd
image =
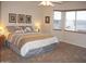
[[[76,10],[86,9],[86,1],[63,1],[61,4],[57,4],[53,10]]]

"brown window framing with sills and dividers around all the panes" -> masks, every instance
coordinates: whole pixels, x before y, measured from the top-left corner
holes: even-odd
[[[70,12],[70,11],[86,11],[86,9],[76,9],[76,10],[53,10],[53,12],[54,11],[59,11],[59,12],[64,12],[64,14],[65,14],[65,12]],[[62,13],[62,15],[63,15],[63,13]],[[61,16],[62,17],[62,16]],[[64,18],[65,18],[65,15],[64,15]],[[76,20],[76,13],[75,13],[75,20]],[[62,20],[61,20],[62,21]],[[64,30],[64,31],[70,31],[70,33],[77,33],[77,34],[86,34],[86,31],[84,31],[84,30],[82,30],[82,31],[79,31],[79,30],[76,30],[76,21],[75,21],[75,30],[66,30],[65,29],[65,22],[66,21],[64,21],[64,28],[61,28],[61,29],[54,29],[54,28],[52,28],[53,30]],[[63,22],[62,22],[63,23]],[[53,24],[52,24],[53,25]],[[63,27],[63,25],[61,24],[61,26]]]

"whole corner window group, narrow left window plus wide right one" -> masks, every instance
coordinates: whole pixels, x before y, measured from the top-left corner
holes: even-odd
[[[86,31],[86,11],[66,11],[64,13],[54,11],[53,29],[61,29],[63,25],[61,22],[64,22],[65,30]]]

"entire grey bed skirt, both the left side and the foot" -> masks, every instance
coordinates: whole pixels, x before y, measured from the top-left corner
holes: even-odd
[[[52,44],[41,47],[41,48],[38,48],[38,49],[33,49],[33,50],[28,51],[27,54],[23,57],[33,57],[33,56],[40,55],[40,54],[44,54],[44,53],[47,53],[47,52],[51,52],[51,51],[56,50],[58,44],[59,43],[52,43]],[[15,46],[10,44],[10,49],[12,49],[14,52],[16,52],[17,55],[21,55],[20,50]]]

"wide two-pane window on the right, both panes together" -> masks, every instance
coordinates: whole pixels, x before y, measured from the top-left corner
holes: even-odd
[[[65,12],[65,30],[86,31],[86,11]]]

